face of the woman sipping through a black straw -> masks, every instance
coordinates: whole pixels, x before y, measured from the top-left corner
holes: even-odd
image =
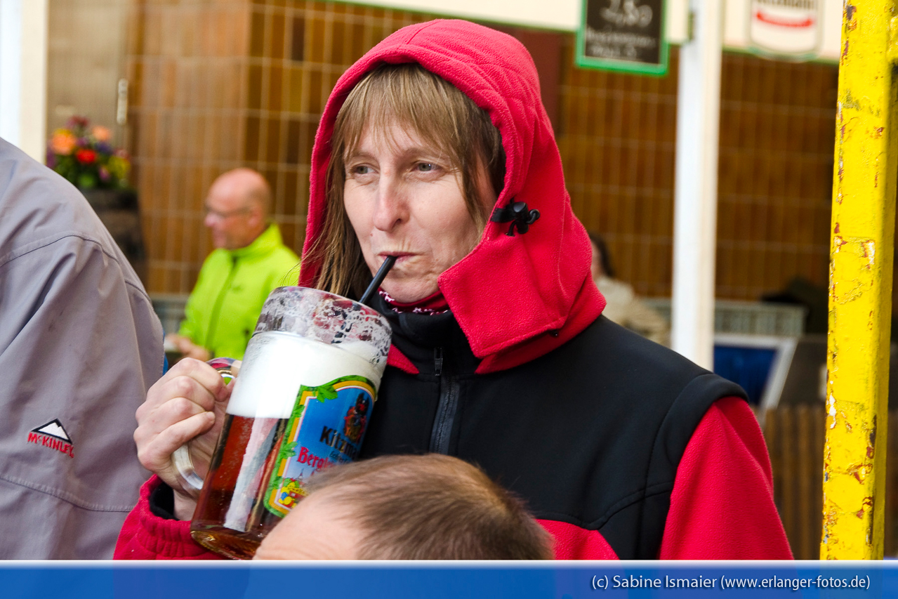
[[[365,130],[347,156],[343,203],[365,264],[374,273],[397,256],[381,286],[402,303],[436,293],[436,279],[480,241],[464,202],[462,173],[418,134],[396,123]],[[496,203],[486,173],[480,201]]]

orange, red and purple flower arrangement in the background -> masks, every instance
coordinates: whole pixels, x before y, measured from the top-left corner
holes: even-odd
[[[84,117],[68,119],[53,132],[47,145],[47,166],[80,189],[128,188],[128,153],[110,145],[112,132],[91,127]]]

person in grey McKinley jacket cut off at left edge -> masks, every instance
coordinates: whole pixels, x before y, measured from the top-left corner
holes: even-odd
[[[3,139],[0,373],[0,559],[110,559],[163,327],[84,196]]]

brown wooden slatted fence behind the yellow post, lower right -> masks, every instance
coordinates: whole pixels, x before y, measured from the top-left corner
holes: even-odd
[[[796,559],[820,559],[823,522],[823,404],[781,406],[764,417],[773,493]],[[898,410],[889,411],[885,555],[898,552]]]

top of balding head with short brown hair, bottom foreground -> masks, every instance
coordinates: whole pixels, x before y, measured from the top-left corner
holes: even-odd
[[[389,455],[318,471],[254,559],[552,559],[524,504],[468,462]]]

